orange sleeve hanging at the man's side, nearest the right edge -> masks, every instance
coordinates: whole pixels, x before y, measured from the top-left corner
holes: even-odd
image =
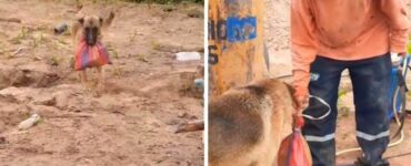
[[[402,53],[407,51],[410,22],[407,18],[403,0],[381,0],[380,7],[390,25],[390,51]]]

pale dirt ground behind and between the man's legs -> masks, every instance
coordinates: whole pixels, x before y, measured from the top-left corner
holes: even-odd
[[[289,48],[290,2],[288,0],[264,0],[265,2],[265,41],[270,53],[271,76],[283,76],[291,74],[291,56]],[[411,1],[408,1],[408,12],[411,13]],[[409,14],[411,19],[411,14]],[[285,79],[289,81],[289,79]],[[408,76],[411,84],[411,75]],[[341,91],[347,94],[339,100],[339,120],[337,128],[338,151],[358,146],[355,139],[354,106],[351,93],[351,83],[348,77],[341,82]],[[408,96],[408,107],[411,107],[411,95]],[[392,128],[397,129],[392,124]],[[392,132],[393,133],[393,132]],[[408,166],[411,162],[411,117],[404,126],[404,141],[395,147],[389,148],[384,157],[389,158],[392,166]],[[349,166],[361,153],[349,153],[338,156],[338,165]]]

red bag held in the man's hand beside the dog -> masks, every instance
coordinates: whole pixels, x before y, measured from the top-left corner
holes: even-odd
[[[294,115],[293,132],[280,145],[278,154],[279,166],[311,166],[310,148],[301,134],[304,125],[302,116]]]

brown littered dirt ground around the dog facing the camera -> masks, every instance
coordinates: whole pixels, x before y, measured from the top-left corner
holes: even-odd
[[[202,118],[192,85],[202,62],[174,54],[202,52],[203,7],[82,3],[82,13],[116,12],[101,96],[81,86],[70,34],[53,34],[76,20],[74,0],[0,0],[0,165],[203,165],[202,133],[173,134]],[[42,120],[17,131],[33,113]]]

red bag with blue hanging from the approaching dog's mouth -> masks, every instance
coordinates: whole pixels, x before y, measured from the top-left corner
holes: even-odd
[[[97,42],[94,45],[88,45],[86,40],[82,40],[76,50],[76,65],[77,71],[84,70],[87,68],[103,66],[111,64],[109,53],[101,42]]]

